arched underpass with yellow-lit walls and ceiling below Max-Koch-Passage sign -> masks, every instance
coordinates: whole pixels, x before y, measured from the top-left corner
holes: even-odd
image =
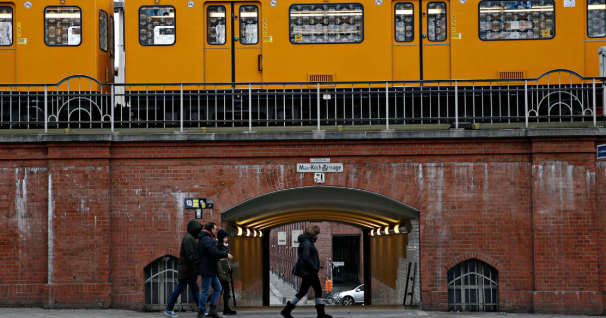
[[[365,305],[402,305],[415,284],[411,282],[406,291],[401,286],[410,280],[402,278],[402,273],[410,263],[406,261],[411,257],[407,252],[409,234],[416,233],[418,242],[418,229],[413,224],[418,224],[419,210],[391,197],[353,188],[299,187],[246,200],[223,211],[221,217],[222,226],[231,234],[232,267],[239,306],[270,305],[270,276],[275,273],[271,254],[280,248],[284,253],[284,249],[293,243],[290,230],[295,229],[294,225],[298,230],[305,230],[304,227],[310,224],[322,225],[322,229],[335,227],[336,230],[322,230],[319,235],[330,236],[331,244],[342,245],[342,242],[355,242],[356,236],[359,238],[360,282],[364,284]],[[344,228],[348,230],[342,230]],[[279,247],[276,234],[286,230],[288,242],[281,243],[285,246]],[[321,263],[328,257],[333,262],[337,260],[332,258],[338,257],[336,250],[321,252],[323,247],[317,243],[316,248],[320,252]],[[418,243],[416,248],[418,253]],[[414,266],[418,270],[418,261]],[[289,274],[290,269],[282,265],[281,273]],[[321,281],[324,271],[322,268],[319,273]],[[283,281],[287,282],[284,276]],[[288,280],[288,283],[293,288],[298,287],[296,280]],[[416,283],[418,286],[418,278]],[[408,296],[408,303],[413,303],[412,298]]]

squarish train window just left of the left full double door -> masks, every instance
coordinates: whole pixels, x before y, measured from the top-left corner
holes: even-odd
[[[139,8],[139,43],[141,45],[173,45],[175,41],[175,7],[144,5]]]

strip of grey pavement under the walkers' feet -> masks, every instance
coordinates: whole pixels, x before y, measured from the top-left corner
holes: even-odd
[[[278,307],[237,307],[237,316],[226,317],[279,317]],[[537,315],[537,314],[510,314],[510,313],[445,313],[435,311],[408,310],[402,306],[330,306],[327,313],[335,318],[357,318],[376,316],[378,318],[402,318],[415,316],[431,316],[432,318],[561,318],[561,317],[587,317],[565,315]],[[195,313],[178,313],[180,317],[193,318]],[[316,312],[311,306],[299,307],[293,311],[295,317],[315,317]],[[139,317],[168,317],[163,313],[140,313],[128,310],[44,310],[41,308],[0,308],[0,318],[139,318]],[[417,317],[430,318],[430,317]]]

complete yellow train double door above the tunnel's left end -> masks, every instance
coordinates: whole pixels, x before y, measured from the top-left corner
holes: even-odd
[[[204,81],[261,82],[261,3],[204,4]]]

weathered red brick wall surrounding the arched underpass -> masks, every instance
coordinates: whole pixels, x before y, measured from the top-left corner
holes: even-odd
[[[447,310],[447,271],[474,258],[498,270],[501,311],[602,314],[605,140],[0,144],[0,306],[142,310],[145,266],[179,255],[185,197],[215,199],[204,222],[220,224],[251,197],[313,185],[295,164],[330,157],[345,172],[325,185],[420,210],[400,260],[418,262],[415,305]],[[244,303],[260,284],[238,290]]]

